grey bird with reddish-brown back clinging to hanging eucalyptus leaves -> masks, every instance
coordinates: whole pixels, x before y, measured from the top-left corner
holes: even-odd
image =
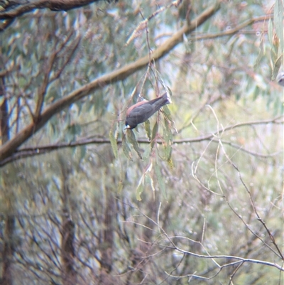
[[[172,100],[170,100],[170,95],[165,93],[164,95],[153,100],[144,100],[133,104],[133,106],[129,107],[126,112],[125,128],[136,128],[138,124],[141,124],[149,119],[155,112],[158,111],[158,109],[160,109],[160,107],[163,107],[165,104],[170,104],[171,102]]]

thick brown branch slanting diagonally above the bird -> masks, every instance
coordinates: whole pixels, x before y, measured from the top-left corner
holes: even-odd
[[[194,21],[188,25],[180,28],[171,38],[166,40],[163,45],[160,45],[159,48],[153,51],[151,54],[150,60],[158,60],[163,58],[166,54],[173,50],[178,43],[183,41],[183,35],[190,33],[191,31],[195,31],[195,29],[202,25],[204,21],[210,18],[212,15],[216,13],[220,8],[220,1],[217,1],[217,4],[210,6],[208,9],[202,12],[200,16],[195,18]],[[1,15],[1,14],[0,14]],[[23,144],[27,139],[29,139],[33,134],[41,129],[48,120],[53,117],[54,114],[62,111],[65,107],[70,106],[70,104],[90,95],[92,92],[101,89],[107,85],[113,84],[114,82],[118,82],[121,80],[125,80],[127,77],[133,74],[133,72],[137,72],[141,70],[149,63],[149,56],[146,55],[143,58],[136,60],[133,63],[129,63],[125,65],[123,68],[119,68],[118,70],[114,70],[107,75],[103,75],[102,77],[97,78],[96,80],[89,82],[87,85],[80,87],[79,89],[70,93],[66,97],[54,102],[49,107],[47,107],[38,120],[36,122],[32,122],[27,127],[22,129],[16,136],[13,137],[10,141],[4,144],[0,151],[0,161],[8,158],[13,154],[13,152],[18,149],[21,144]]]

